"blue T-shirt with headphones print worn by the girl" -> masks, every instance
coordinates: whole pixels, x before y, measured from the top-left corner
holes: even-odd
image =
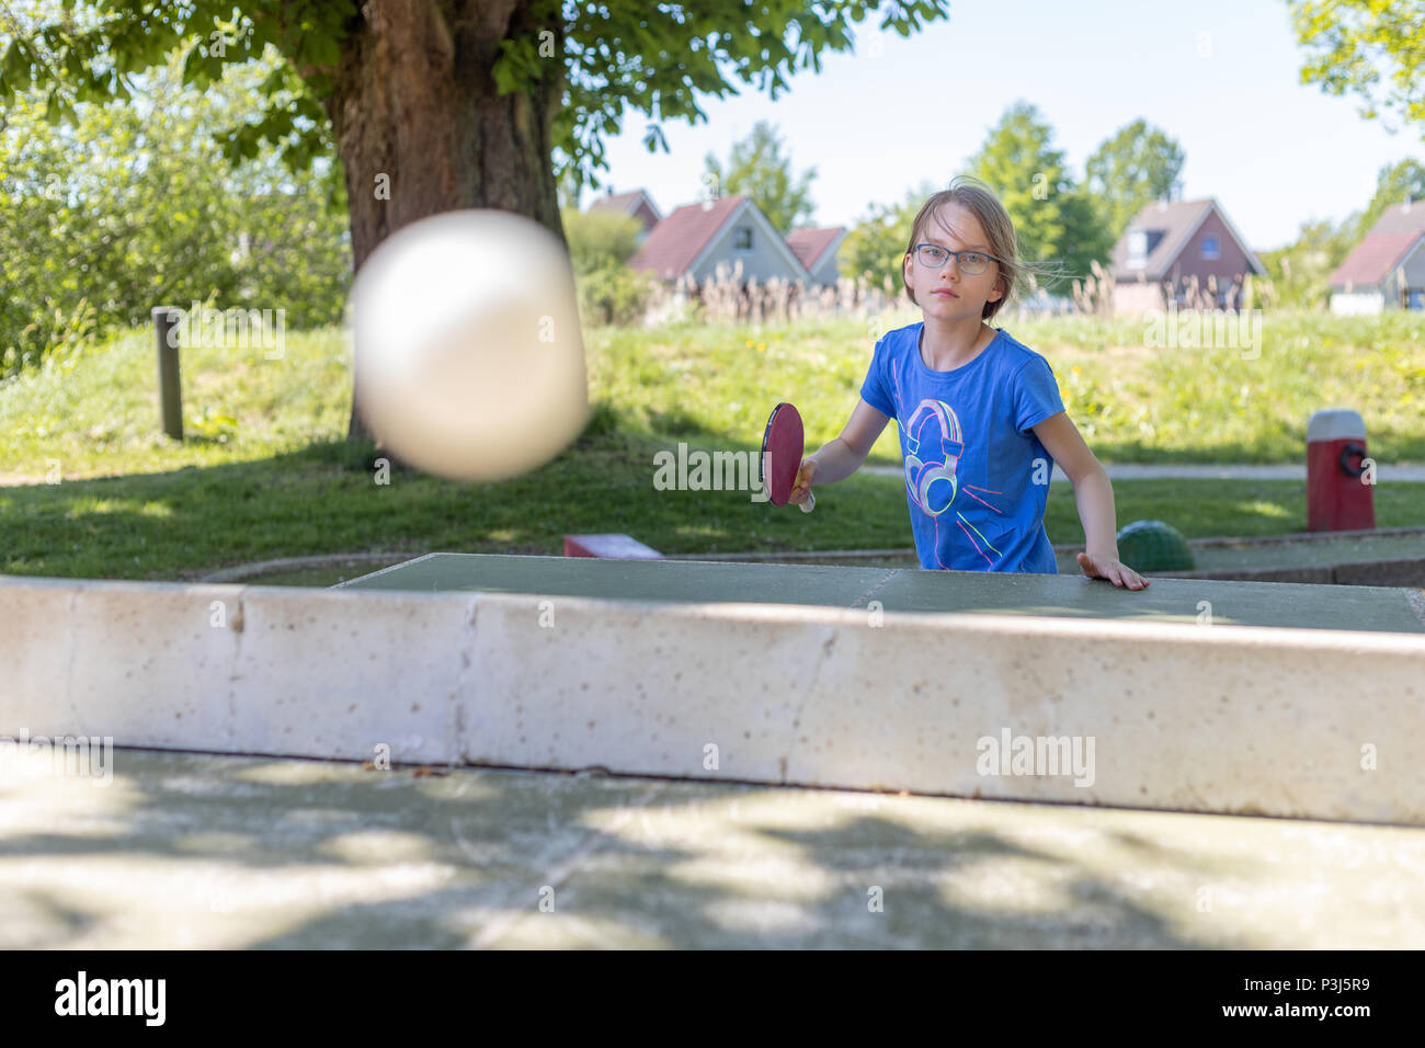
[[[1054,463],[1030,429],[1064,409],[1049,361],[1000,329],[969,364],[932,371],[923,328],[876,342],[861,386],[901,431],[921,566],[1057,575],[1045,530]]]

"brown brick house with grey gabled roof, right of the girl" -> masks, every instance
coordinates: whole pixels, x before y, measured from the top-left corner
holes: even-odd
[[[1129,222],[1113,248],[1113,311],[1144,314],[1200,305],[1235,309],[1248,275],[1261,264],[1216,198],[1160,200]]]

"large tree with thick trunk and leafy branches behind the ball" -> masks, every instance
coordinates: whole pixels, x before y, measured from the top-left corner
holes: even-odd
[[[341,161],[353,264],[396,230],[442,211],[499,208],[563,238],[560,177],[597,187],[603,140],[626,110],[705,120],[701,94],[732,78],[771,98],[821,53],[852,46],[871,0],[60,0],[0,54],[0,107],[31,86],[56,121],[83,101],[127,100],[133,77],[182,56],[184,83],[281,56],[255,113],[217,134],[229,161],[271,145],[292,171]],[[879,29],[909,36],[948,0],[892,0]],[[351,435],[365,436],[352,398]]]

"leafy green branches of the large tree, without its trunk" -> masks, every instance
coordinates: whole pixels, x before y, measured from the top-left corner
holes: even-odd
[[[17,33],[0,56],[0,104],[38,84],[51,120],[73,120],[80,101],[127,100],[133,76],[182,54],[184,83],[205,87],[232,63],[282,56],[264,81],[265,101],[241,114],[218,137],[237,161],[272,145],[291,170],[332,154],[329,111],[345,48],[370,16],[390,17],[390,0],[187,0],[161,13],[148,0],[61,0],[63,16]],[[418,4],[455,44],[460,19],[482,9],[503,23],[479,60],[500,96],[526,91],[559,64],[564,97],[553,120],[556,178],[600,185],[607,170],[604,140],[623,130],[631,108],[651,118],[650,151],[667,150],[661,124],[707,120],[703,94],[738,94],[727,73],[775,101],[797,68],[821,71],[821,53],[852,46],[849,29],[878,13],[875,0],[828,0],[811,10],[804,0],[740,0],[653,4],[581,4],[576,0],[456,0]],[[893,0],[881,30],[901,36],[949,17],[948,0]],[[553,60],[553,61],[551,61]]]

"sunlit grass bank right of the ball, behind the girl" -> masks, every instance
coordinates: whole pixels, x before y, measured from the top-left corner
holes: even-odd
[[[841,432],[876,339],[921,318],[788,324],[683,319],[589,332],[591,392],[644,432],[747,435],[779,399],[808,441]],[[1425,462],[1425,315],[1270,311],[1260,345],[1154,346],[1151,319],[1006,312],[996,324],[1054,369],[1069,416],[1107,462],[1302,462],[1311,413],[1354,408],[1381,462]],[[1208,325],[1210,327],[1210,325]],[[893,462],[888,426],[874,455]]]

